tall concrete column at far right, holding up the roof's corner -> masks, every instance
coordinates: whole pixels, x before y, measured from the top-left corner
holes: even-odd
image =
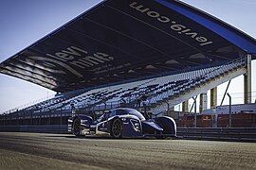
[[[251,55],[247,55],[247,73],[244,75],[245,104],[251,103]]]

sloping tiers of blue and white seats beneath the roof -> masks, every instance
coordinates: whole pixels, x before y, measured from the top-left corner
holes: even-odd
[[[158,76],[92,90],[59,93],[53,98],[23,110],[14,110],[10,115],[11,119],[27,119],[27,122],[32,118],[38,124],[42,124],[40,121],[44,118],[54,117],[55,122],[60,123],[61,119],[66,121],[71,116],[72,107],[82,113],[90,114],[92,111],[102,112],[120,107],[122,102],[125,102],[126,107],[143,110],[142,105],[137,106],[137,98],[147,95],[148,111],[156,116],[166,112],[168,107],[174,107],[192,98],[194,93],[208,91],[212,86],[222,84],[229,78],[245,74],[246,61],[247,59],[236,59],[226,64],[191,72]],[[167,106],[166,103],[170,104]],[[47,123],[47,121],[42,122]]]

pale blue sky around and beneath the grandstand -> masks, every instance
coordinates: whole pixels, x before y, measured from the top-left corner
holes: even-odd
[[[256,38],[255,0],[183,0]],[[0,62],[36,42],[101,0],[1,0]],[[252,71],[256,76],[256,63]],[[227,84],[218,88],[219,102]],[[255,78],[252,95],[256,97]],[[234,103],[243,102],[243,76],[232,80],[229,93]],[[54,92],[24,80],[0,75],[0,112],[53,95]],[[228,103],[228,100],[225,101]]]

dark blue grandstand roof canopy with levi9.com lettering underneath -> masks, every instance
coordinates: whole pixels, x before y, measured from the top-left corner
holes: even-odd
[[[105,0],[0,64],[56,92],[256,56],[256,41],[173,0]]]

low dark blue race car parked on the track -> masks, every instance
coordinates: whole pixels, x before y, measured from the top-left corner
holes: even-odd
[[[159,139],[176,136],[176,124],[168,116],[145,119],[137,110],[118,108],[109,110],[93,121],[91,116],[74,114],[68,119],[68,131],[76,136],[110,135],[113,138],[140,138],[153,136]]]

